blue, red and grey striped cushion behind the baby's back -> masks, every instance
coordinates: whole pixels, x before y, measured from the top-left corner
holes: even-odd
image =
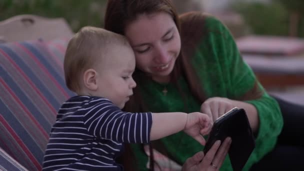
[[[0,44],[0,147],[28,170],[40,170],[65,86],[67,39]]]

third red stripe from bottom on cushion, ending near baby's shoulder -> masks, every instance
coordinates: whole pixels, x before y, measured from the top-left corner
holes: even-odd
[[[15,68],[20,72],[20,74],[27,80],[27,82],[31,85],[31,87],[39,94],[39,96],[43,99],[45,104],[53,111],[52,113],[56,115],[57,111],[54,109],[54,107],[48,102],[48,100],[44,97],[43,94],[39,91],[39,89],[36,88],[36,86],[31,82],[31,80],[28,78],[26,74],[24,74],[23,70],[6,54],[2,49],[0,49],[0,52],[10,61],[12,65],[15,66]],[[4,82],[4,81],[3,81]],[[16,98],[17,99],[17,98]]]

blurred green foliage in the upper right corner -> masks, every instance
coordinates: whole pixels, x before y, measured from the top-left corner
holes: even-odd
[[[300,9],[298,36],[304,36],[304,0],[272,0],[269,3],[239,0],[233,8],[244,17],[252,33],[283,36],[289,33],[291,11]]]

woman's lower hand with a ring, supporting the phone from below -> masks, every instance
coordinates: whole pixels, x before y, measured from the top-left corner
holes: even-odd
[[[200,151],[194,154],[192,157],[188,158],[182,165],[181,170],[182,171],[219,170],[221,164],[223,163],[228,153],[230,144],[231,144],[230,137],[227,137],[221,145],[219,140],[215,141],[215,143],[212,145],[212,147],[205,155],[202,151]]]

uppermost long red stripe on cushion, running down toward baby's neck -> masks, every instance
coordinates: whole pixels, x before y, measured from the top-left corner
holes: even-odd
[[[63,95],[66,98],[69,98],[69,95],[65,92],[65,90],[62,88],[62,86],[56,81],[56,79],[48,72],[48,70],[40,63],[40,61],[37,59],[37,57],[32,54],[27,48],[25,48],[22,44],[20,43],[15,43],[16,46],[19,46],[22,48],[30,57],[33,58],[33,60],[37,63],[37,65],[46,73],[46,75],[52,80],[52,82],[56,85],[56,87],[63,93]],[[48,105],[51,105],[48,103]],[[55,111],[56,113],[57,111]]]

